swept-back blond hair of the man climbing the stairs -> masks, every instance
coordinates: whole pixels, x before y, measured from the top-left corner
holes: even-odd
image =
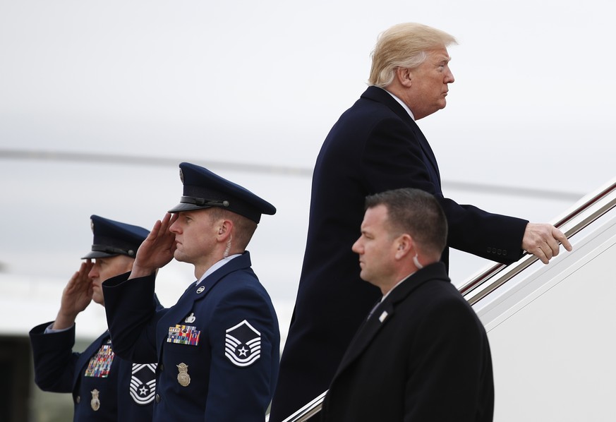
[[[370,54],[370,85],[385,88],[394,80],[397,68],[416,68],[430,50],[457,44],[456,39],[421,23],[399,23],[382,32]]]

